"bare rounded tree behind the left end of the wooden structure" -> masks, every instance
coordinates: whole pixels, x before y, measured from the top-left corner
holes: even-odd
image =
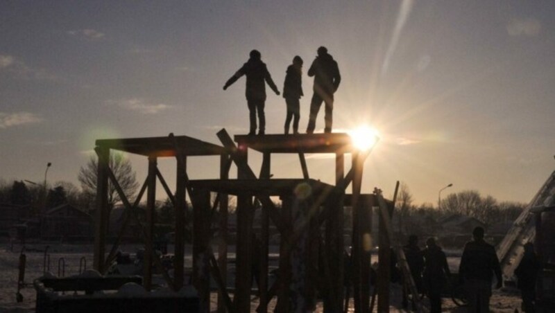
[[[108,163],[110,170],[114,173],[119,186],[123,190],[126,197],[131,198],[137,192],[139,184],[135,178],[135,171],[131,168],[131,163],[122,153],[110,152],[110,162]],[[81,183],[83,193],[87,194],[89,199],[94,199],[96,195],[96,177],[98,176],[98,159],[91,156],[89,162],[84,167],[81,166],[77,179]],[[108,181],[108,211],[121,201],[116,187],[111,181]]]

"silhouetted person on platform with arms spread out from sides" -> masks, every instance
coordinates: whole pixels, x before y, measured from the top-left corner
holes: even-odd
[[[270,88],[275,92],[276,95],[280,95],[278,87],[272,80],[266,64],[262,62],[261,55],[259,51],[250,51],[250,58],[248,62],[241,66],[241,69],[235,73],[225,85],[223,85],[223,90],[228,89],[231,84],[236,82],[242,75],[247,76],[245,96],[247,98],[247,105],[249,111],[250,120],[250,132],[249,135],[254,135],[256,133],[256,114],[258,112],[259,120],[259,135],[264,134],[264,129],[266,128],[266,118],[264,116],[264,102],[266,102],[266,84],[268,83]]]

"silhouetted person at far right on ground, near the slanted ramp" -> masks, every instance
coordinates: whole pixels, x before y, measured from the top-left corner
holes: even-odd
[[[540,271],[540,262],[533,251],[533,244],[524,244],[524,256],[515,269],[518,278],[516,287],[522,296],[522,309],[524,312],[536,312],[536,279]]]

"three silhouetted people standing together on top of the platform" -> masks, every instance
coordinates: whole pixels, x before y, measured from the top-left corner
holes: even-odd
[[[308,70],[309,77],[314,76],[314,93],[310,102],[307,134],[314,133],[314,129],[316,128],[316,116],[323,102],[325,103],[324,132],[332,132],[334,93],[339,88],[339,83],[341,82],[339,66],[332,55],[327,53],[327,48],[321,46],[318,48],[317,53],[318,55]],[[298,134],[300,97],[304,96],[302,92],[302,64],[302,58],[296,55],[293,57],[293,64],[287,67],[283,87],[283,97],[287,105],[284,134],[289,134],[291,120],[293,120],[293,134]],[[266,83],[276,95],[279,96],[280,91],[273,82],[266,64],[262,62],[262,55],[257,50],[250,51],[248,62],[243,64],[241,69],[225,82],[223,90],[228,89],[231,84],[236,82],[243,75],[246,75],[245,96],[247,98],[250,120],[250,131],[248,134],[256,134],[258,116],[258,134],[263,135],[266,130],[266,116],[264,115]]]

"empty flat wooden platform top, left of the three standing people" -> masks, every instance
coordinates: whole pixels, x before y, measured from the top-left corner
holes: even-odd
[[[99,139],[97,147],[114,149],[144,156],[176,156],[180,147],[182,156],[210,156],[225,154],[225,148],[189,136]]]

